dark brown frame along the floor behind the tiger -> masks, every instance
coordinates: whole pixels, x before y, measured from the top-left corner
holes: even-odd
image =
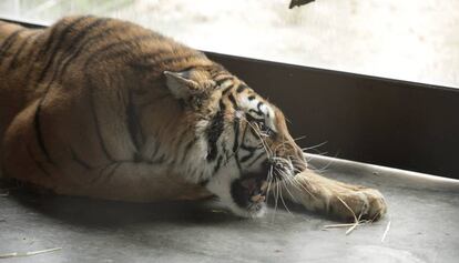
[[[206,53],[283,109],[309,152],[459,179],[459,89]]]

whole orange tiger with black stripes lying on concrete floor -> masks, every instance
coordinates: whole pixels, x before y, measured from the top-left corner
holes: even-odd
[[[0,164],[55,194],[214,200],[259,218],[266,199],[348,220],[387,211],[375,189],[308,166],[283,112],[203,52],[133,22],[0,22]]]

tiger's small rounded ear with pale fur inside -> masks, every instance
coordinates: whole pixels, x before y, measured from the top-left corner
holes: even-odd
[[[190,79],[190,74],[188,70],[181,72],[164,71],[166,85],[176,99],[187,100],[190,97],[202,92],[200,84]]]

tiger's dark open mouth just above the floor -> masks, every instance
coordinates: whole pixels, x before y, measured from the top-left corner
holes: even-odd
[[[266,178],[251,174],[235,180],[231,186],[231,194],[239,208],[258,212],[264,206],[267,188]]]

